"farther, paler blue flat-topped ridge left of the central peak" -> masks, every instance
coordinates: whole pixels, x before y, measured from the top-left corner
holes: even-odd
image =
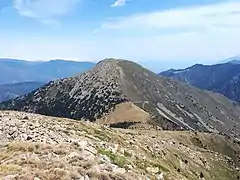
[[[0,59],[0,84],[20,82],[48,82],[77,75],[91,69],[91,62],[51,60],[29,62],[17,59]]]

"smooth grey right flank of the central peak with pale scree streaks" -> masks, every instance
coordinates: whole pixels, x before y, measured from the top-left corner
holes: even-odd
[[[168,130],[214,132],[240,137],[240,107],[222,95],[159,77],[130,61],[119,61],[128,100]]]

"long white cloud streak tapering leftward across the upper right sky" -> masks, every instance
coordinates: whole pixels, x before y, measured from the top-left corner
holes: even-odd
[[[103,29],[127,31],[154,31],[160,29],[199,29],[215,26],[239,26],[240,2],[205,5],[200,7],[171,9],[167,11],[150,12],[111,20],[102,24]]]

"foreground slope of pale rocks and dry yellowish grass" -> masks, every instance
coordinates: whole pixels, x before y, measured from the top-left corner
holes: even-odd
[[[240,145],[216,134],[111,129],[0,111],[0,179],[236,180]]]

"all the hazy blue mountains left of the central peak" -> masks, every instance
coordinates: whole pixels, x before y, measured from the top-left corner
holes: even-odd
[[[93,66],[91,62],[65,60],[0,59],[0,102],[30,93],[49,81],[78,75]]]

